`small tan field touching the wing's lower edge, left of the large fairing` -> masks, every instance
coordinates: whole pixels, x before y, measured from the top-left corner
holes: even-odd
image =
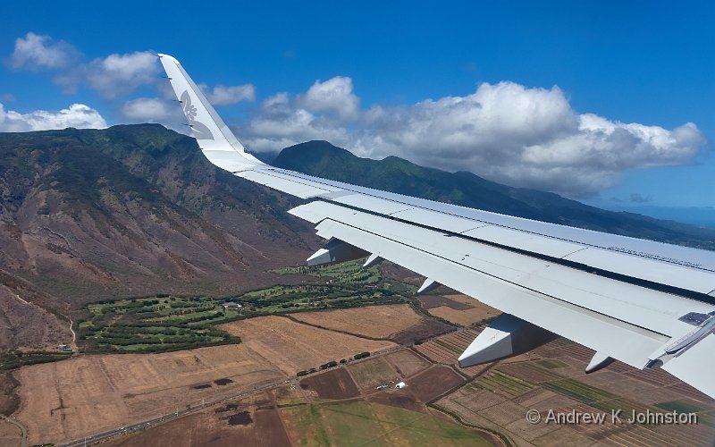
[[[467,295],[425,295],[417,298],[420,306],[432,316],[454,325],[468,326],[499,316],[501,312]]]

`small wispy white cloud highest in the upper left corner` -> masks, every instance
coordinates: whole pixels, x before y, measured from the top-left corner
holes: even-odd
[[[29,32],[15,39],[13,54],[7,59],[13,70],[60,70],[70,65],[80,53],[70,44],[55,42],[49,36]]]

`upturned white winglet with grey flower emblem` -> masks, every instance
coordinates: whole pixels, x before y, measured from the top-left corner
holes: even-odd
[[[248,154],[233,132],[216,114],[214,107],[198,89],[181,67],[181,63],[170,55],[159,54],[166,76],[172,83],[172,89],[181,103],[198,147],[202,149],[208,161],[231,173],[245,171],[258,165],[264,165],[255,156]]]

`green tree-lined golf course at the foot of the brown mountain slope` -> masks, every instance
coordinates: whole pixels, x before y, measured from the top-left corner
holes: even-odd
[[[407,302],[407,284],[388,281],[362,261],[332,266],[285,267],[274,273],[308,274],[314,283],[275,285],[212,299],[157,294],[89,304],[79,322],[79,342],[87,352],[160,352],[240,342],[214,325],[255,316],[330,308]],[[318,281],[315,281],[318,279]],[[238,309],[224,309],[227,302]]]

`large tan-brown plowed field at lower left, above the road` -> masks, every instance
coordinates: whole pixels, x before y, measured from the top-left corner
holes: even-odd
[[[299,353],[296,353],[299,355]],[[29,443],[61,443],[171,413],[284,378],[248,346],[154,355],[81,356],[22,367],[20,411]],[[214,380],[230,379],[223,386]],[[211,384],[204,389],[198,384]]]

